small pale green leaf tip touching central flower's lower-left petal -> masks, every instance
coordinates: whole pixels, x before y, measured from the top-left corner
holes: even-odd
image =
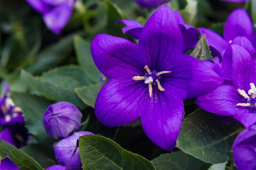
[[[106,82],[99,82],[94,85],[84,86],[82,88],[76,88],[76,94],[80,97],[80,99],[94,108],[96,98],[99,94],[100,89],[105,85]]]

